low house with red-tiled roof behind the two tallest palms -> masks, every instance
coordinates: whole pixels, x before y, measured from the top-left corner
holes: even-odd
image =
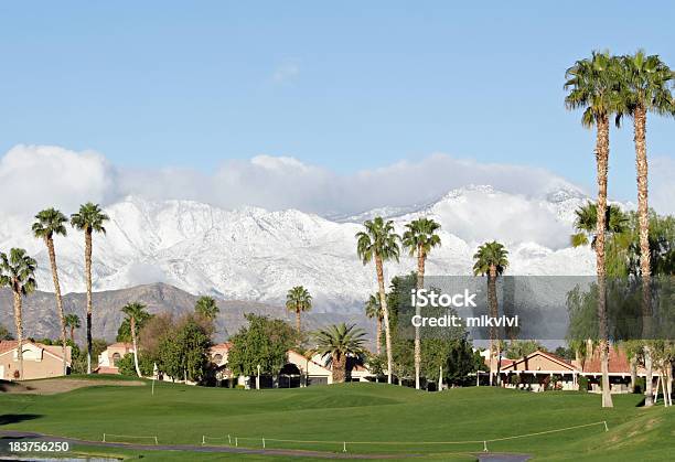
[[[496,370],[493,370],[495,373]],[[645,370],[638,367],[638,377],[644,377]],[[536,351],[519,359],[502,359],[500,368],[502,384],[508,388],[522,388],[532,391],[544,391],[555,387],[562,390],[578,390],[579,377],[586,377],[589,391],[600,393],[602,370],[600,353],[586,361],[568,361],[553,353]],[[610,347],[609,378],[614,394],[632,393],[631,364],[625,351],[621,347]]]

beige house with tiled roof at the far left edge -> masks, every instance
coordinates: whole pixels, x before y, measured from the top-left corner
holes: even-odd
[[[38,342],[23,341],[23,377],[50,378],[63,376],[63,347],[44,345]],[[0,342],[0,379],[19,378],[19,342],[14,340]],[[66,365],[71,367],[71,347],[66,346]]]

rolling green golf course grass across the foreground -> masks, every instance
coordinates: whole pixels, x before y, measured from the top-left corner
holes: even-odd
[[[537,460],[668,460],[675,450],[675,411],[640,408],[639,400],[634,395],[619,395],[613,409],[601,409],[597,395],[486,387],[429,394],[383,384],[261,391],[158,384],[150,396],[150,387],[96,386],[52,396],[0,396],[0,415],[33,416],[0,428],[93,441],[100,441],[104,432],[157,436],[167,444],[200,444],[203,434],[223,437],[225,442],[231,434],[239,438],[239,445],[251,448],[260,448],[265,437],[268,448],[321,451],[340,451],[341,441],[360,441],[371,443],[347,443],[349,451],[427,453],[428,459],[446,460],[457,453],[458,460],[472,460],[465,454],[480,452],[482,443],[413,442],[482,441],[606,420],[609,432],[600,425],[490,442],[489,449],[534,454]],[[285,443],[272,438],[335,443]],[[136,452],[125,453],[129,454]],[[143,454],[143,460],[161,456]],[[213,455],[214,460],[224,456]],[[197,460],[210,458],[200,454]]]

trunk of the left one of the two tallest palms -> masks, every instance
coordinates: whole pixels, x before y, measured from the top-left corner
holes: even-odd
[[[598,168],[598,205],[596,228],[596,271],[598,276],[598,320],[600,337],[600,363],[602,369],[602,407],[611,408],[612,395],[609,383],[609,341],[607,327],[607,271],[604,267],[604,227],[607,217],[607,172],[609,162],[609,118],[598,119],[596,163]]]

